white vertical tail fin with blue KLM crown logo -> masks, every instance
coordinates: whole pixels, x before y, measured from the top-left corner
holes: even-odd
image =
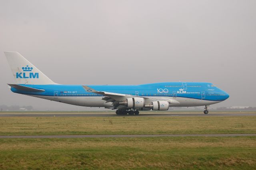
[[[4,52],[16,84],[56,84],[18,52]]]

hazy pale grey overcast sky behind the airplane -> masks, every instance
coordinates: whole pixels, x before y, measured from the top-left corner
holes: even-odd
[[[60,84],[212,82],[212,107],[256,106],[255,0],[2,0],[0,104],[75,108],[10,92],[4,51]]]

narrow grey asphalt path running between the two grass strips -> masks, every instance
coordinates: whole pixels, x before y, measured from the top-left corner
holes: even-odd
[[[130,134],[130,135],[15,135],[0,136],[0,138],[140,138],[140,137],[177,137],[177,136],[256,136],[256,134]]]

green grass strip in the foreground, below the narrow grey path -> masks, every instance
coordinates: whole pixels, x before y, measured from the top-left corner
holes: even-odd
[[[256,169],[256,136],[0,139],[1,170]]]

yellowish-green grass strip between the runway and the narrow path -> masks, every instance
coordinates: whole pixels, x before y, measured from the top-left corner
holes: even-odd
[[[256,116],[1,117],[0,135],[246,134]]]

